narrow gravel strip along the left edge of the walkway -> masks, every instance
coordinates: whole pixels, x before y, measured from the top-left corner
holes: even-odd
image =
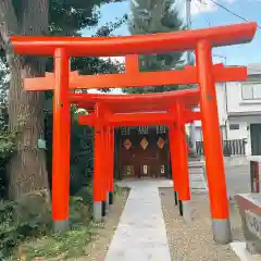
[[[86,248],[86,257],[77,259],[77,261],[104,261],[110,243],[127,201],[128,192],[128,189],[123,189],[121,194],[116,195],[110,214],[105,217],[104,223],[99,226],[98,234]]]

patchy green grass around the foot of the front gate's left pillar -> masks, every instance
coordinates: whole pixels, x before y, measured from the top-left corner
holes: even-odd
[[[122,195],[127,188],[115,186],[114,195]],[[82,191],[83,192],[83,191]],[[86,211],[83,198],[76,197],[71,203],[72,228],[63,234],[50,233],[42,237],[34,238],[18,246],[11,260],[66,260],[86,254],[86,246],[98,235],[98,229],[104,228],[103,223],[94,223],[91,212]]]

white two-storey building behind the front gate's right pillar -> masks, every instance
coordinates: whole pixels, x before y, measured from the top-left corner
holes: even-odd
[[[244,140],[246,156],[261,156],[261,64],[248,65],[246,82],[216,84],[216,96],[223,140]],[[201,122],[195,125],[202,141]]]

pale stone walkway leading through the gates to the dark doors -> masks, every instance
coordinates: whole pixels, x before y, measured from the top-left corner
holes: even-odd
[[[171,261],[158,187],[170,181],[129,181],[132,187],[105,261]]]

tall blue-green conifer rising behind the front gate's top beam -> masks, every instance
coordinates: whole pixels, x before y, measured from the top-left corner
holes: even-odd
[[[129,32],[132,35],[169,33],[184,29],[175,8],[176,0],[133,0]],[[181,52],[139,57],[139,69],[144,72],[174,70],[183,64]],[[177,86],[126,88],[125,92],[158,92],[176,89]]]

